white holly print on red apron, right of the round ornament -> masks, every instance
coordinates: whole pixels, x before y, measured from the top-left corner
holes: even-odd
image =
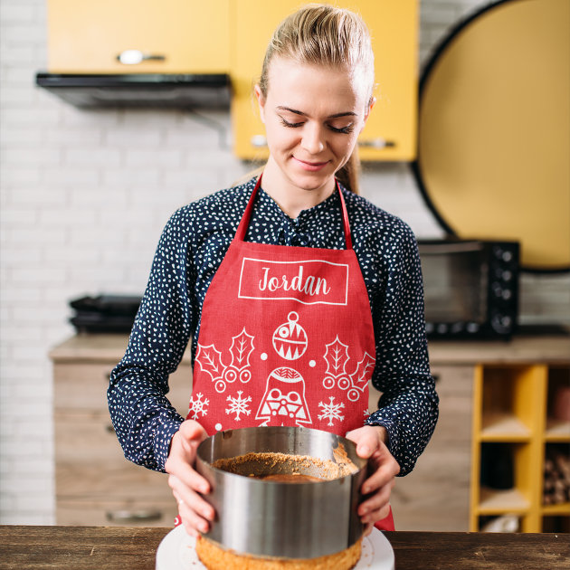
[[[324,358],[327,362],[327,370],[323,386],[330,390],[337,385],[340,390],[347,390],[347,397],[351,402],[356,402],[364,394],[368,381],[372,377],[375,358],[365,352],[362,360],[356,365],[356,370],[349,374],[347,372],[347,363],[350,360],[348,345],[340,342],[337,336],[333,342],[325,346],[327,350]]]

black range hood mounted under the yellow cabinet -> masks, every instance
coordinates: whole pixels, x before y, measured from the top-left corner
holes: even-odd
[[[227,109],[231,98],[230,76],[225,73],[38,72],[35,82],[81,109]]]

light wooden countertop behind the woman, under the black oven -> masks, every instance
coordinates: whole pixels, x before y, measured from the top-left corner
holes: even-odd
[[[125,354],[128,335],[82,334],[54,347],[50,356],[54,362],[81,360],[83,362],[118,363]],[[505,340],[431,340],[430,362],[437,365],[475,365],[493,363],[568,363],[570,335],[520,335]],[[186,350],[182,361],[190,362]]]

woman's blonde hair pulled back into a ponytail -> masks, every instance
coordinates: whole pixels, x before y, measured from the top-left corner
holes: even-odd
[[[263,59],[259,81],[263,97],[267,97],[269,69],[275,56],[299,64],[346,69],[366,89],[366,104],[372,102],[374,52],[366,24],[354,12],[330,5],[309,4],[285,18],[273,33]],[[359,170],[355,147],[336,176],[356,194]]]

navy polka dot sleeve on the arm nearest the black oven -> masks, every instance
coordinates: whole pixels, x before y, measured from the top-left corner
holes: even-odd
[[[381,342],[376,343],[373,385],[383,394],[379,410],[366,423],[385,426],[388,447],[403,476],[413,470],[432,436],[439,400],[428,364],[421,264],[411,231],[402,234],[394,252],[385,271],[382,310],[375,319]]]

